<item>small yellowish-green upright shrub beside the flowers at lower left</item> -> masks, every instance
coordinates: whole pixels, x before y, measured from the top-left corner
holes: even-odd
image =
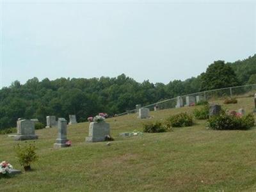
[[[20,144],[14,147],[17,160],[24,167],[25,171],[31,170],[30,164],[38,159],[36,155],[36,147],[34,143],[29,143],[21,147]]]

